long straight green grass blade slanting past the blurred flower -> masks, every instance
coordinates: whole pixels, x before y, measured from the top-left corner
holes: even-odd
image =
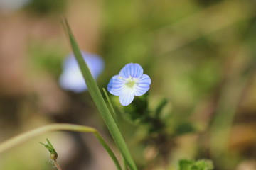
[[[110,110],[107,108],[107,105],[102,97],[102,94],[100,93],[100,89],[97,86],[95,79],[93,79],[92,74],[90,73],[90,70],[85,63],[85,60],[83,60],[80,49],[77,45],[77,42],[75,41],[72,31],[70,30],[70,26],[68,25],[68,21],[66,21],[65,19],[63,20],[63,26],[68,35],[68,39],[70,41],[73,53],[78,60],[79,67],[87,84],[88,91],[92,96],[92,100],[95,102],[98,110],[102,114],[102,117],[105,120],[107,128],[110,130],[114,142],[122,153],[122,156],[126,160],[129,168],[131,170],[137,170],[137,166],[134,164],[132,156],[129,153],[129,149],[124,142],[124,138],[122,137],[122,134],[117,127],[117,124],[114,122],[114,118],[112,118]]]

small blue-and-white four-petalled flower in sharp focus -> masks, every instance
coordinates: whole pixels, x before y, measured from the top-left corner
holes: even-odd
[[[143,74],[142,67],[137,63],[126,64],[119,75],[110,79],[107,90],[110,94],[119,96],[122,106],[132,103],[134,96],[142,96],[149,90],[151,79]]]

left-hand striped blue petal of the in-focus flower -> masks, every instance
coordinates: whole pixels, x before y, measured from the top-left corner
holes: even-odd
[[[110,91],[110,94],[115,96],[120,96],[124,89],[125,81],[118,78],[119,75],[115,75],[110,79],[110,83],[107,84],[107,90]]]

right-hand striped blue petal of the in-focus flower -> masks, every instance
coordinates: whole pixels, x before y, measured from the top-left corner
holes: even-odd
[[[134,86],[134,95],[142,96],[149,90],[149,86],[151,84],[151,79],[148,75],[143,74],[142,77],[137,81],[137,85]]]

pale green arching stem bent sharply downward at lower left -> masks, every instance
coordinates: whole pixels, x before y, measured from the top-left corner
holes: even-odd
[[[13,137],[9,140],[6,140],[5,142],[2,142],[0,144],[0,153],[5,152],[8,149],[11,149],[12,147],[15,147],[18,144],[21,144],[22,142],[25,142],[26,140],[32,137],[36,137],[37,135],[41,135],[45,132],[59,131],[59,130],[92,133],[93,135],[95,135],[97,140],[100,141],[100,144],[105,148],[107,153],[110,155],[114,164],[117,166],[117,169],[122,170],[117,160],[117,157],[115,157],[114,153],[112,152],[112,149],[110,149],[110,147],[107,145],[105,140],[102,138],[102,136],[100,135],[100,132],[98,132],[95,128],[91,128],[83,125],[74,125],[74,124],[68,124],[68,123],[54,123],[51,125],[45,125],[35,130],[24,132],[21,135],[17,135],[16,137]]]

